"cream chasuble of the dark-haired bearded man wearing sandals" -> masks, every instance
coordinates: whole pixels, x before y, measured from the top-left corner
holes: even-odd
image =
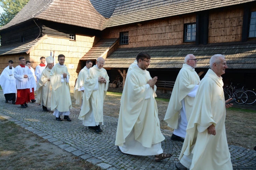
[[[139,67],[129,71],[121,98],[115,145],[123,147],[130,133],[134,133],[133,140],[146,148],[165,139],[160,131],[156,86],[149,87],[150,79],[149,72]]]

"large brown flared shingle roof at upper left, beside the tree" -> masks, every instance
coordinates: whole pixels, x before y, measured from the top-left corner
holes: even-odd
[[[105,18],[95,10],[89,0],[30,0],[0,30],[35,18],[96,30],[103,30],[105,21]]]

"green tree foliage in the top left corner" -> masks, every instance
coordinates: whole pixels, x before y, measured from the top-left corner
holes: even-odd
[[[10,22],[28,1],[29,0],[0,0],[0,5],[4,11],[1,14],[0,27]]]

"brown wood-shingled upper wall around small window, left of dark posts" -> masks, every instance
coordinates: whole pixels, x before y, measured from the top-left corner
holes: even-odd
[[[184,23],[191,22],[196,22],[196,14],[141,22],[141,26],[136,23],[106,29],[102,33],[102,38],[119,38],[119,32],[129,31],[129,44],[121,45],[120,48],[180,45],[185,44]]]

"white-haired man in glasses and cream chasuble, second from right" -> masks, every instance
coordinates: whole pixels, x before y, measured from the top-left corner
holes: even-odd
[[[185,57],[176,78],[165,115],[168,126],[174,128],[171,140],[184,141],[187,122],[192,112],[200,78],[195,71],[197,59],[193,54]],[[179,113],[180,112],[180,113]]]

